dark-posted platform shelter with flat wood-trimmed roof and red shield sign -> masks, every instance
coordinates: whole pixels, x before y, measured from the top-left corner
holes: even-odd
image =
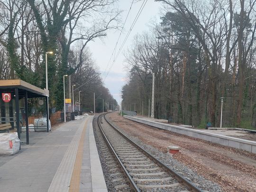
[[[29,84],[20,79],[0,80],[0,125],[10,124],[11,130],[17,129],[18,138],[21,139],[20,118],[22,110],[26,122],[26,143],[29,144],[29,129],[28,129],[28,100],[29,98],[43,98],[45,100],[46,117],[48,116],[48,104],[46,100],[49,97],[49,91],[40,89],[32,84]],[[22,104],[20,101],[24,99],[24,109],[19,107]],[[49,131],[49,119],[46,118],[47,132]],[[15,129],[16,128],[16,129]]]

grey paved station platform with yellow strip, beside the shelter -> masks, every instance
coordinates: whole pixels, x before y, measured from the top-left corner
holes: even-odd
[[[52,132],[30,132],[29,145],[0,156],[1,192],[107,192],[93,116],[62,123]]]

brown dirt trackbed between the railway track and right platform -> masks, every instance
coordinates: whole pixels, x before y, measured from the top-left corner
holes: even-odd
[[[225,192],[256,192],[256,154],[143,125],[110,113],[108,117],[126,133],[167,152],[170,145],[182,148],[173,155]]]

